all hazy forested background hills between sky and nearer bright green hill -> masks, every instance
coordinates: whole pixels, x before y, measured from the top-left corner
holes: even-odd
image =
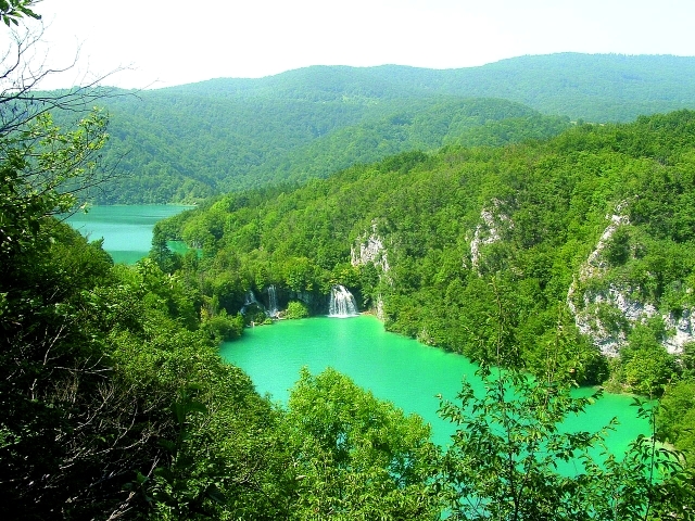
[[[695,107],[695,59],[553,54],[481,67],[315,66],[104,100],[98,203],[192,202],[445,144],[546,138],[569,120]]]

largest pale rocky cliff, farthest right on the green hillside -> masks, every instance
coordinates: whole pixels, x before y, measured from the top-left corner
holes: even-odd
[[[616,209],[623,211],[624,203]],[[654,303],[633,298],[634,288],[616,283],[599,290],[591,289],[592,285],[601,288],[601,281],[608,272],[604,257],[608,241],[619,227],[630,226],[628,217],[619,213],[606,216],[606,219],[609,225],[567,292],[567,305],[574,316],[574,323],[604,355],[617,356],[627,343],[630,329],[649,318],[660,317],[668,332],[664,347],[671,354],[682,352],[683,345],[695,341],[691,309],[684,309],[678,317],[672,313],[662,314]],[[597,283],[591,284],[592,281]]]

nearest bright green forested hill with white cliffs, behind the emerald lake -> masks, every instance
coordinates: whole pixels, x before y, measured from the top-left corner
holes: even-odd
[[[607,355],[616,385],[649,394],[695,330],[694,147],[695,113],[682,111],[406,153],[229,194],[157,237],[202,249],[180,269],[225,313],[270,285],[283,306],[325,313],[343,284],[389,329],[485,359],[501,305],[509,363],[545,370],[554,345],[557,370],[597,382]]]

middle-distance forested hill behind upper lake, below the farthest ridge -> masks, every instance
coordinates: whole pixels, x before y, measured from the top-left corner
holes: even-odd
[[[102,204],[194,202],[397,152],[541,138],[569,125],[504,100],[442,97],[351,104],[165,92],[113,101],[104,160],[117,180],[97,194]]]

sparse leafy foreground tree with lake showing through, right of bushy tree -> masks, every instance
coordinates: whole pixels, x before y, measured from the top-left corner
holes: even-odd
[[[484,366],[480,376],[483,397],[464,382],[460,405],[440,408],[458,425],[439,482],[450,519],[579,519],[578,508],[586,505],[573,505],[578,491],[556,467],[586,458],[601,435],[563,433],[557,425],[590,398],[572,399],[565,387]]]

